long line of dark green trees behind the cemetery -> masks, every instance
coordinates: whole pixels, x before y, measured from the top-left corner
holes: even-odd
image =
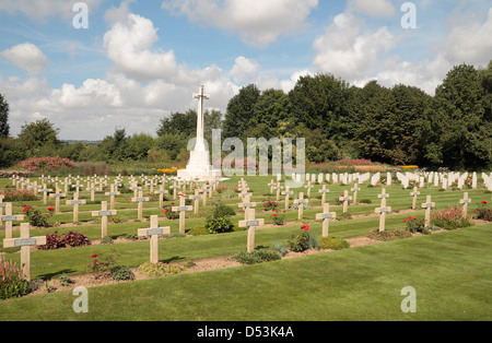
[[[161,119],[156,138],[115,129],[97,145],[62,144],[47,119],[26,123],[9,137],[9,104],[0,94],[0,167],[28,157],[60,156],[74,162],[187,161],[197,113]],[[225,115],[208,110],[206,138],[305,139],[306,161],[366,158],[390,165],[490,170],[492,167],[492,61],[487,68],[454,67],[431,96],[422,90],[376,81],[363,87],[331,74],[302,76],[294,88],[261,92],[244,86]],[[246,152],[245,152],[246,153]]]

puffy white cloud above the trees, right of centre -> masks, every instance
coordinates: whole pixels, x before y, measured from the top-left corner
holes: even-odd
[[[382,52],[394,47],[396,39],[388,28],[363,31],[365,22],[353,14],[335,17],[325,35],[315,39],[313,66],[324,73],[332,73],[347,81],[367,78],[378,63]]]

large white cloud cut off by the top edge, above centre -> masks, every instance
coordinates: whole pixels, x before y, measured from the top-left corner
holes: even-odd
[[[280,35],[295,35],[318,0],[169,0],[162,8],[190,22],[234,32],[246,44],[266,47]]]

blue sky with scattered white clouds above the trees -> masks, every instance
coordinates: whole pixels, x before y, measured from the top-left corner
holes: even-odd
[[[225,111],[242,86],[289,92],[301,75],[331,73],[433,94],[453,66],[492,59],[489,0],[417,0],[405,29],[395,0],[0,1],[0,93],[11,134],[47,118],[61,139],[101,140],[115,128],[155,134],[174,111]]]

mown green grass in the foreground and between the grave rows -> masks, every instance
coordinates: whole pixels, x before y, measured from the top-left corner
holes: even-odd
[[[266,218],[271,212],[262,210],[263,196],[269,192],[271,177],[246,178],[258,202],[257,216]],[[237,185],[238,178],[224,182]],[[1,182],[9,180],[0,180]],[[320,235],[321,224],[314,220],[320,212],[316,199],[317,185],[312,190],[314,209],[304,211],[303,223]],[[329,185],[328,201],[339,197],[351,186]],[[380,188],[362,187],[359,199],[371,199],[371,204],[350,206],[352,215],[370,214],[378,206]],[[301,190],[297,190],[301,191]],[[304,190],[305,191],[305,190]],[[388,205],[394,211],[411,208],[410,190],[398,186],[387,188]],[[456,205],[462,191],[442,192],[434,188],[422,189],[419,204],[432,194],[436,209]],[[473,202],[487,200],[483,189],[470,190]],[[87,197],[83,193],[83,197]],[[126,222],[137,217],[137,205],[128,202],[132,194],[118,197],[118,217],[122,223],[110,224],[109,236],[134,235],[149,222]],[[485,197],[485,198],[484,198]],[[108,197],[97,194],[96,200]],[[274,200],[274,194],[271,199]],[[482,199],[483,198],[483,199]],[[291,198],[292,200],[294,197]],[[222,201],[237,209],[238,198],[224,199],[215,194],[209,206],[200,206],[200,214],[187,218],[187,229],[202,225],[213,201]],[[165,202],[171,204],[173,200]],[[279,210],[283,211],[283,197]],[[34,202],[43,208],[40,202]],[[20,213],[23,202],[14,203]],[[177,221],[166,221],[157,204],[147,203],[144,216],[159,214],[161,225],[178,232]],[[60,234],[81,232],[90,239],[101,238],[101,226],[93,223],[89,212],[98,204],[81,206],[81,218],[90,223],[74,227],[33,229],[32,236],[58,230]],[[473,205],[470,205],[470,211]],[[62,206],[66,213],[55,215],[54,223],[71,222],[71,206]],[[332,211],[341,214],[340,206]],[[423,217],[423,211],[412,213]],[[402,228],[409,214],[387,216],[387,229]],[[239,213],[233,223],[243,218]],[[285,222],[296,222],[297,212],[288,211]],[[296,234],[301,223],[260,229],[256,233],[256,247],[270,247],[273,241],[284,241]],[[367,235],[377,229],[378,217],[361,217],[330,224],[330,236],[349,238]],[[14,232],[14,237],[19,232]],[[270,262],[261,265],[241,267],[207,273],[185,274],[124,283],[90,289],[90,312],[74,314],[75,297],[70,292],[30,296],[0,301],[1,320],[490,320],[492,271],[488,261],[492,255],[492,225],[476,226],[431,236],[409,238],[401,241],[354,248],[337,252]],[[0,247],[4,232],[0,232]],[[160,259],[163,262],[192,261],[202,258],[229,256],[246,249],[246,232],[160,240]],[[19,253],[8,250],[7,258],[20,261]],[[90,246],[32,253],[33,277],[57,277],[61,274],[86,273],[86,263],[93,253],[116,253],[119,264],[138,267],[149,260],[149,243],[133,241],[108,246]],[[418,312],[402,314],[400,291],[406,286],[417,289]]]

